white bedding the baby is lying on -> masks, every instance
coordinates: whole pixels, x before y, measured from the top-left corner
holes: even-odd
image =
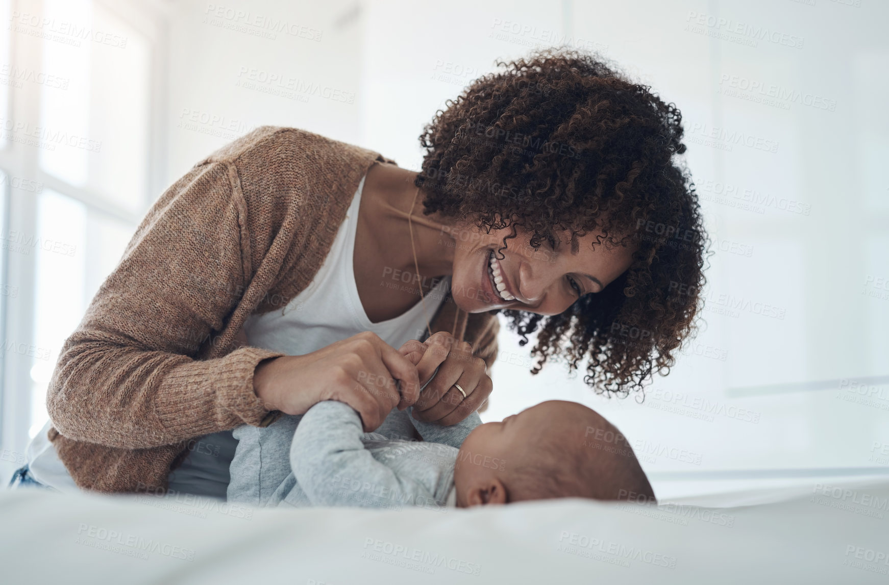
[[[737,508],[445,513],[15,490],[0,493],[0,573],[66,585],[889,582],[889,484],[837,489]]]

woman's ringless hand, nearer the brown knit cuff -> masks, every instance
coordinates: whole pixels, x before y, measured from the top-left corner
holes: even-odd
[[[323,400],[344,402],[371,432],[396,405],[404,410],[416,402],[420,380],[409,359],[376,333],[365,332],[304,356],[261,362],[253,373],[253,391],[269,410],[286,414],[306,413]]]

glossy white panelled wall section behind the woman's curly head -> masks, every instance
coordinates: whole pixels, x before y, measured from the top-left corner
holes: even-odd
[[[685,116],[687,159],[717,250],[706,323],[690,355],[639,405],[596,397],[559,365],[529,375],[515,365],[527,348],[504,333],[502,357],[513,364],[495,365],[486,419],[547,398],[581,401],[651,450],[641,458],[659,493],[889,470],[872,451],[889,442],[889,300],[885,290],[882,298],[862,295],[869,276],[889,277],[889,183],[880,171],[889,159],[881,108],[889,7],[863,4],[369,3],[363,140],[403,166],[417,168],[422,125],[462,84],[498,58],[565,37],[603,52]],[[705,24],[694,28],[699,15]],[[768,36],[756,46],[731,32],[762,28]],[[733,87],[748,84],[765,94]],[[762,103],[769,92],[790,99]],[[775,152],[713,142],[712,132],[743,132]],[[725,185],[736,196],[717,195]],[[751,192],[763,200],[753,211],[743,207]],[[717,312],[738,301],[737,314]],[[782,317],[760,314],[764,305]],[[838,381],[865,376],[884,377],[869,383],[882,398],[845,401],[859,395],[841,392]],[[794,383],[804,384],[757,388]]]

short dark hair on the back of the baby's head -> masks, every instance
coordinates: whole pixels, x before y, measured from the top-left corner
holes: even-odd
[[[584,409],[589,413],[559,429],[542,429],[534,441],[538,448],[507,467],[508,501],[629,500],[631,494],[656,501],[626,437],[602,415]]]

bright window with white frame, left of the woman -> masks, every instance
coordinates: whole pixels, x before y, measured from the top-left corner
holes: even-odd
[[[62,344],[157,190],[151,97],[163,20],[149,6],[0,0],[0,444],[16,455],[3,465],[18,467],[48,420]]]

